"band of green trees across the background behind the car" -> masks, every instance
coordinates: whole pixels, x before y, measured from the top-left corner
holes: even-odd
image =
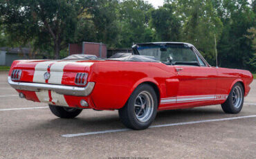
[[[82,41],[111,48],[185,41],[213,66],[217,48],[220,66],[255,72],[255,4],[255,0],[166,0],[153,8],[143,0],[2,0],[0,45],[29,46],[57,59],[66,55],[68,43]]]

